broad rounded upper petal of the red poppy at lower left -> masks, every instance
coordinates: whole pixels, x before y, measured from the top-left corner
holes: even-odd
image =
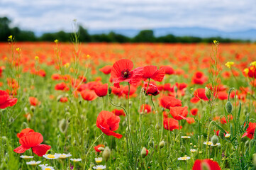
[[[43,135],[39,132],[30,132],[27,135],[23,135],[20,139],[21,145],[24,147],[35,147],[43,142]]]

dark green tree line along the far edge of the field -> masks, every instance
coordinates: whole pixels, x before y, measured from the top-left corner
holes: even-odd
[[[33,31],[21,30],[18,27],[10,27],[11,20],[7,17],[0,18],[0,41],[6,42],[9,35],[13,35],[16,41],[54,41],[59,40],[60,42],[70,42],[72,38],[72,33],[65,33],[65,31],[59,31],[57,33],[43,33],[43,35],[37,37]],[[229,42],[250,42],[250,40],[234,40],[230,38],[199,38],[193,36],[175,36],[172,34],[155,37],[153,30],[140,30],[138,35],[133,38],[121,35],[118,33],[110,32],[108,34],[94,34],[90,35],[87,29],[79,26],[79,41],[80,42],[165,42],[165,43],[197,43],[197,42],[213,42],[213,40],[218,40],[219,42],[229,43]]]

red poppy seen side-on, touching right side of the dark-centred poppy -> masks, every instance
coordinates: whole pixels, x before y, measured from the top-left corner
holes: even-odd
[[[143,79],[153,79],[155,81],[162,81],[165,77],[165,68],[160,68],[157,70],[156,66],[145,66],[143,69]]]

